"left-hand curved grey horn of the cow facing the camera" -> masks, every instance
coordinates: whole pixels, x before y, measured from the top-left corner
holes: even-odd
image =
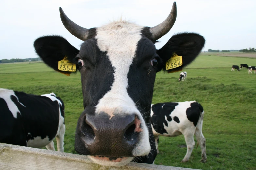
[[[63,23],[63,25],[65,26],[65,28],[75,37],[79,38],[82,41],[86,41],[88,38],[88,30],[87,28],[83,28],[80,27],[79,25],[77,25],[75,22],[71,21],[66,14],[64,13],[64,11],[62,10],[62,8],[59,8],[60,10],[60,18],[61,21]]]

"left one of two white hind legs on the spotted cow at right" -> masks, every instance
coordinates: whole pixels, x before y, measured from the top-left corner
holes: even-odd
[[[186,133],[182,133],[185,137],[185,141],[187,144],[187,153],[181,162],[187,162],[189,157],[194,149],[195,141],[194,141],[194,133],[191,133],[191,129],[185,129]]]

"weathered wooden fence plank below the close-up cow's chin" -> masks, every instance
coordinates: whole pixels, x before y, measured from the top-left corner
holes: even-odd
[[[124,167],[105,167],[93,163],[87,156],[45,149],[0,143],[0,169],[28,170],[193,170],[171,166],[130,163]]]

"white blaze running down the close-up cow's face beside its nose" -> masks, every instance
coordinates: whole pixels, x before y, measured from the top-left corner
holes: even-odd
[[[128,95],[128,72],[132,65],[141,39],[144,27],[128,21],[114,21],[108,25],[97,28],[97,44],[102,52],[107,52],[107,57],[114,68],[114,81],[111,90],[98,102],[95,112],[104,111],[113,116],[121,114],[136,114],[141,120],[141,140],[133,150],[134,156],[146,155],[150,151],[149,135],[145,122],[137,109],[134,101]]]

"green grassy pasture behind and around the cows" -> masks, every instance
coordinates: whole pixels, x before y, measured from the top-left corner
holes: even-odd
[[[157,73],[153,103],[197,100],[204,107],[203,134],[207,162],[201,163],[196,146],[189,162],[180,163],[186,153],[184,136],[160,137],[155,164],[195,169],[256,169],[256,74],[231,72],[232,65],[256,65],[256,58],[200,55],[179,73]],[[65,103],[65,152],[75,153],[78,117],[83,111],[80,74],[65,76],[43,63],[0,64],[0,87],[32,94],[54,92]],[[196,141],[196,139],[195,139]],[[56,142],[55,142],[56,144]]]

